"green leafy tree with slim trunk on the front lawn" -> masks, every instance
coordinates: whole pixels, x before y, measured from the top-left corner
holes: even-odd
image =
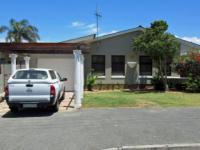
[[[180,43],[174,35],[167,33],[167,22],[160,20],[151,23],[133,39],[133,50],[150,56],[157,68],[157,78],[167,84],[167,59],[173,59],[180,52]]]

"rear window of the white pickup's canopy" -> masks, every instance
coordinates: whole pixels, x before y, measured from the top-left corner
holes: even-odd
[[[47,79],[46,71],[39,70],[21,70],[17,71],[13,79]]]

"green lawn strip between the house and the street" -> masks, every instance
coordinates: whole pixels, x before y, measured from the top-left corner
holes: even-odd
[[[192,107],[200,106],[200,94],[182,92],[89,92],[83,106],[87,107]]]

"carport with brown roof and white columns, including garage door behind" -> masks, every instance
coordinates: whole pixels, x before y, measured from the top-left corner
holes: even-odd
[[[35,63],[37,68],[49,68],[62,72],[63,77],[69,77],[68,85],[75,95],[75,107],[81,107],[84,91],[84,54],[88,53],[87,45],[79,43],[0,43],[0,52],[1,59],[5,57],[10,59],[11,74],[17,69],[19,57],[24,59],[24,68],[29,68]],[[37,61],[33,61],[30,65],[31,59],[37,59]]]

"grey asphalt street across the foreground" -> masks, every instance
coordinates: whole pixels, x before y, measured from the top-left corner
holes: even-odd
[[[40,111],[0,118],[1,150],[96,150],[166,143],[200,143],[200,109]]]

